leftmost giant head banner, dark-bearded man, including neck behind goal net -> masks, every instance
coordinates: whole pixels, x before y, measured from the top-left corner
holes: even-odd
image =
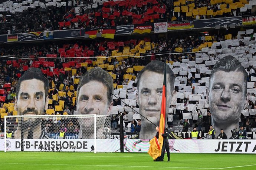
[[[17,111],[17,115],[43,115],[44,110],[48,107],[48,89],[49,81],[42,74],[41,69],[29,68],[19,78],[16,86],[14,109]],[[17,122],[17,127],[14,127],[14,122]],[[30,136],[31,139],[44,137],[40,119],[24,118],[22,121],[17,121],[15,118],[10,118],[7,125],[7,133],[12,133],[14,139],[20,139],[21,135],[26,138]]]

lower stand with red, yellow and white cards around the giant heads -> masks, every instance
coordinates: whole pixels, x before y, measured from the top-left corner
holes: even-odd
[[[16,96],[15,87],[19,77],[29,67],[41,68],[43,74],[49,79],[48,97],[50,101],[45,113],[49,115],[74,114],[79,77],[89,69],[98,66],[111,74],[114,79],[114,93],[127,103],[124,106],[118,99],[114,99],[113,114],[118,116],[126,112],[127,115],[132,115],[136,124],[140,115],[130,112],[128,106],[138,110],[137,103],[134,102],[135,97],[132,97],[132,93],[136,92],[137,73],[152,60],[164,61],[166,59],[174,71],[175,90],[177,91],[177,104],[173,104],[172,116],[168,116],[168,121],[172,119],[172,124],[168,125],[173,126],[173,131],[181,130],[179,120],[183,118],[183,112],[191,112],[189,119],[189,130],[191,130],[197,122],[198,113],[206,119],[209,112],[209,106],[204,99],[206,89],[203,87],[206,86],[212,66],[217,59],[231,54],[241,62],[249,75],[247,81],[248,91],[251,93],[250,105],[243,111],[241,120],[244,122],[246,118],[250,119],[251,128],[255,128],[256,119],[252,116],[256,107],[254,94],[256,64],[255,57],[253,57],[256,48],[255,32],[253,29],[247,29],[246,31],[234,31],[233,36],[225,34],[225,31],[221,31],[221,34],[205,32],[197,36],[188,34],[179,37],[171,36],[172,38],[167,39],[157,38],[155,41],[146,37],[141,40],[127,41],[99,39],[89,44],[82,40],[77,42],[71,40],[70,43],[57,41],[47,44],[5,45],[0,48],[0,54],[11,58],[12,56],[20,57],[20,59],[1,58],[1,117],[17,114],[13,107]],[[187,110],[186,107],[188,107]],[[123,111],[118,112],[117,108],[118,110],[122,108]],[[12,121],[15,124],[14,120],[9,120],[9,122]],[[53,121],[56,123],[58,120],[45,123],[46,132],[51,129]],[[126,122],[126,125],[130,121]],[[52,126],[55,130],[50,131],[55,132],[59,126],[57,128]],[[79,127],[75,122],[65,122],[64,126],[68,130],[72,126],[72,131],[78,132]]]

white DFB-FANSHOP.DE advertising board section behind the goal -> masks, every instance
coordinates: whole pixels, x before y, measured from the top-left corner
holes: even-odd
[[[7,140],[8,151],[63,151],[63,152],[93,152],[93,139],[24,139],[23,144],[20,139]],[[4,139],[0,140],[0,150],[4,150]],[[120,149],[120,140],[97,139],[97,152],[115,152]]]

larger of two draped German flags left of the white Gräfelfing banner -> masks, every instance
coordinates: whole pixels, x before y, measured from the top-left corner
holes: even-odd
[[[89,38],[96,38],[97,33],[101,34],[101,37],[114,39],[115,27],[95,27],[89,31],[85,31],[85,34],[89,35]]]

